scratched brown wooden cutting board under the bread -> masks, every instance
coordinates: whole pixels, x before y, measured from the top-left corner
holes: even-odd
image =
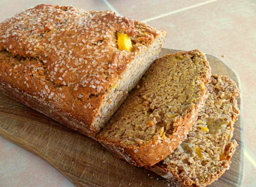
[[[178,50],[162,49],[160,56]],[[221,60],[206,55],[212,74],[233,79],[241,90],[238,75]],[[244,169],[244,131],[242,98],[240,115],[234,124],[233,139],[239,146],[232,164],[219,180],[209,186],[241,186]],[[166,186],[167,181],[154,172],[132,166],[112,154],[98,142],[59,124],[53,119],[5,96],[0,92],[0,135],[38,155],[76,186]],[[130,185],[129,185],[130,184]]]

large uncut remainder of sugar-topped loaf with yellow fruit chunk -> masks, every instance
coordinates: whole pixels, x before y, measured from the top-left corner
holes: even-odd
[[[38,5],[0,23],[0,90],[94,137],[165,37],[112,11]]]

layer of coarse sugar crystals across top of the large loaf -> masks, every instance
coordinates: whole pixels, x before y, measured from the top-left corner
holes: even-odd
[[[95,84],[82,85],[84,81],[88,78],[95,78],[96,83],[105,80],[101,87],[107,89],[109,82],[125,70],[127,60],[137,54],[137,48],[132,53],[116,48],[117,31],[130,37],[136,37],[138,32],[130,18],[116,16],[111,11],[85,12],[76,7],[38,5],[1,24],[0,49],[50,63],[47,74],[55,75],[51,78],[55,84],[79,84],[78,90],[86,87],[97,94],[101,89],[97,90]]]

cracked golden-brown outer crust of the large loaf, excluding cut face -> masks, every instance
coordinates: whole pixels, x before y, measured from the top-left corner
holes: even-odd
[[[116,32],[131,38],[132,52],[118,49]],[[113,84],[160,33],[112,11],[38,5],[0,23],[1,82],[90,127]]]

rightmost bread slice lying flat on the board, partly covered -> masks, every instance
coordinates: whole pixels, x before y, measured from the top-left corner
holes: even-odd
[[[163,161],[150,168],[175,186],[206,186],[229,169],[236,146],[233,124],[239,89],[230,78],[212,75],[208,99],[187,138]]]

